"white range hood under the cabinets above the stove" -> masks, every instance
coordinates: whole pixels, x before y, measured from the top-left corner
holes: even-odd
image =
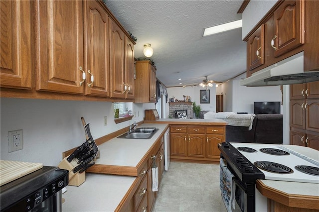
[[[319,81],[319,72],[304,72],[304,52],[295,54],[240,81],[241,86],[279,86]]]

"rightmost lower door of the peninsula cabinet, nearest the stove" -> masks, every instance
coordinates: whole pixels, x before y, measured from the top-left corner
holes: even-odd
[[[220,157],[220,151],[217,148],[218,143],[225,141],[224,135],[207,135],[206,137],[206,158]]]

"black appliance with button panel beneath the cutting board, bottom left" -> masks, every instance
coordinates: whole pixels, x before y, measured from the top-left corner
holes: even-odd
[[[43,166],[0,187],[1,212],[60,212],[68,170]]]

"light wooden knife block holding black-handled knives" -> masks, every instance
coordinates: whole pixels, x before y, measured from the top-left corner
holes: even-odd
[[[85,182],[85,171],[82,173],[73,173],[72,170],[78,166],[77,162],[75,159],[73,159],[71,162],[67,161],[68,157],[65,157],[58,167],[60,169],[66,169],[69,170],[69,186],[80,186],[82,183]]]

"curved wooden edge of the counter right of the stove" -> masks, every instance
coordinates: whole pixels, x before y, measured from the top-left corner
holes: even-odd
[[[256,187],[263,196],[288,207],[302,207],[305,209],[318,210],[318,196],[287,194],[272,187],[266,186],[261,180],[257,180]]]

